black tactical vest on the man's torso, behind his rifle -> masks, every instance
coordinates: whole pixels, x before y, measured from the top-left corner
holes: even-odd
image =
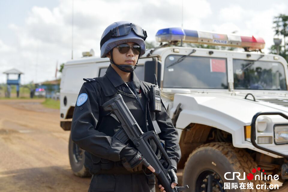
[[[84,79],[85,80],[85,79]],[[155,120],[155,113],[149,111],[151,119],[149,119],[149,115],[147,115],[147,110],[150,104],[150,93],[149,93],[149,87],[152,85],[145,81],[140,81],[140,87],[142,92],[138,95],[139,98],[141,98],[142,103],[146,103],[146,105],[143,105],[145,109],[145,113],[142,111],[140,105],[134,98],[132,94],[124,93],[123,91],[116,90],[113,86],[107,86],[107,84],[111,84],[111,82],[105,77],[98,77],[93,79],[87,79],[89,81],[87,82],[93,82],[97,81],[98,84],[96,84],[99,93],[101,93],[100,96],[98,96],[98,103],[99,103],[99,120],[96,126],[96,130],[105,133],[107,136],[113,136],[119,128],[121,128],[121,125],[119,121],[117,120],[116,116],[111,112],[103,111],[101,105],[103,105],[105,102],[109,101],[113,97],[115,97],[117,94],[121,94],[123,97],[124,102],[126,103],[128,109],[131,111],[132,115],[134,116],[135,120],[139,124],[140,128],[143,130],[143,132],[147,132],[151,130],[151,120]],[[86,81],[86,80],[85,80]],[[113,87],[113,88],[111,88]],[[113,90],[114,89],[114,90]],[[147,117],[148,116],[148,117]],[[145,117],[145,118],[143,118]],[[149,126],[150,125],[150,126]],[[162,140],[161,140],[162,141]],[[164,142],[164,141],[163,141]],[[129,144],[131,147],[134,147],[134,144],[130,141]],[[158,154],[158,151],[156,150],[156,145],[152,142],[150,143],[153,151],[155,154]],[[89,172],[91,174],[100,174],[100,173],[107,173],[107,174],[131,174],[131,172],[128,172],[123,166],[121,161],[111,161],[107,159],[103,159],[100,157],[97,157],[87,151],[85,151],[85,160],[84,160],[84,166],[85,168],[89,169]],[[157,155],[160,159],[160,154]],[[142,172],[142,171],[141,171]]]

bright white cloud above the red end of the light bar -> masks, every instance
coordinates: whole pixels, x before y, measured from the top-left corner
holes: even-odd
[[[239,35],[254,35],[265,40],[265,53],[273,43],[273,18],[280,13],[287,12],[285,4],[271,4],[268,9],[254,10],[240,5],[230,5],[219,11],[219,20],[223,23],[219,26],[213,25],[215,31],[230,33],[237,31]]]

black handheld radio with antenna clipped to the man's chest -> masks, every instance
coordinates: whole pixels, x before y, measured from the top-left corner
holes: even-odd
[[[153,86],[151,85],[150,87],[151,111],[158,113],[161,112],[161,95],[155,74],[154,78],[155,78],[155,85]]]

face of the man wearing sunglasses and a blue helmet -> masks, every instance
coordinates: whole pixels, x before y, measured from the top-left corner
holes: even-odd
[[[126,43],[128,45],[134,45],[136,43],[134,42],[129,42]],[[106,55],[107,57],[111,57],[110,52]],[[117,65],[136,65],[136,62],[138,60],[138,56],[137,54],[133,53],[132,49],[130,48],[129,51],[127,53],[120,53],[119,49],[117,47],[113,48],[113,61],[117,64]]]

